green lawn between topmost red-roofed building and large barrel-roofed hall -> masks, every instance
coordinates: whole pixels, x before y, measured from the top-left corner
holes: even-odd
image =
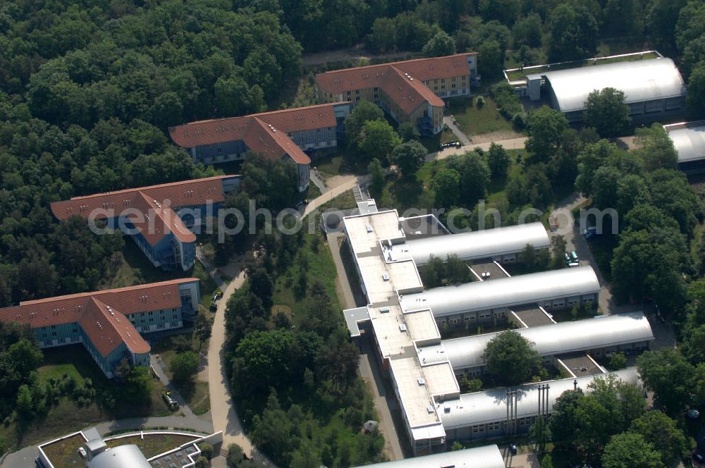
[[[484,106],[478,108],[474,97],[451,99],[446,115],[453,115],[460,130],[467,136],[501,130],[513,131],[512,123],[500,115],[494,99],[486,96],[484,101]]]

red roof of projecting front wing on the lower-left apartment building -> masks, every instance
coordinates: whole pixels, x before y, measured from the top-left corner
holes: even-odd
[[[137,355],[151,349],[126,316],[95,297],[88,300],[78,323],[102,356],[109,355],[121,343]]]

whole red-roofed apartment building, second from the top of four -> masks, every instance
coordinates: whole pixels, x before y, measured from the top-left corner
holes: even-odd
[[[247,152],[281,158],[296,165],[298,188],[309,184],[311,159],[305,152],[336,147],[343,137],[346,102],[197,121],[169,128],[171,140],[188,149],[195,162],[240,161]]]

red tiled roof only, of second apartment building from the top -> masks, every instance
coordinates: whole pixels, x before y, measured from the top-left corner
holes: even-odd
[[[174,143],[184,148],[243,140],[252,151],[268,154],[266,146],[258,144],[256,138],[250,137],[252,132],[259,133],[258,127],[260,124],[258,121],[263,122],[264,125],[272,125],[278,131],[283,131],[286,137],[287,132],[335,127],[336,116],[333,106],[334,104],[318,104],[316,106],[255,113],[250,116],[191,122],[169,128],[169,135],[171,135],[171,140]],[[290,141],[290,138],[286,137],[286,140]],[[298,161],[299,159],[305,161],[308,156],[302,159],[300,155],[288,154],[299,164],[308,164],[308,162]],[[281,156],[283,156],[283,152],[278,154],[277,157]]]

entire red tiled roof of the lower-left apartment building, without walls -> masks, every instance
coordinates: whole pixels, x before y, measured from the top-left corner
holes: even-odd
[[[127,288],[24,301],[18,306],[0,309],[0,321],[17,321],[29,324],[32,328],[78,322],[104,356],[120,344],[118,340],[123,340],[133,352],[148,352],[149,345],[142,340],[123,314],[181,307],[178,285],[192,281],[198,279],[180,278]],[[109,314],[110,310],[114,312],[114,316]],[[102,324],[102,329],[95,326],[96,321]],[[112,345],[114,346],[111,347]],[[107,351],[104,353],[105,350]]]

